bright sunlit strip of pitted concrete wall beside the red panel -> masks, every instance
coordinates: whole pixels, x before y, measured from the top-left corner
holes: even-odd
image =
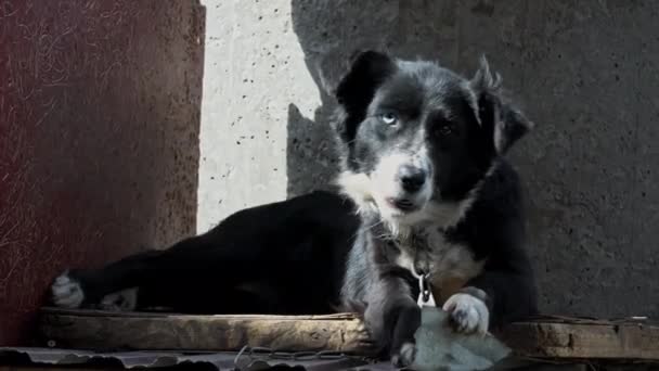
[[[289,105],[313,116],[321,104],[293,30],[289,2],[203,3],[199,231],[243,207],[286,197]]]

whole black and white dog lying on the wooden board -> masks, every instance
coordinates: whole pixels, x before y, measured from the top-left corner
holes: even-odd
[[[482,334],[534,314],[519,180],[502,157],[532,125],[484,59],[469,80],[363,52],[336,98],[339,192],[244,209],[169,250],[67,271],[52,285],[54,304],[358,310],[400,366],[415,353],[418,278],[457,331]]]

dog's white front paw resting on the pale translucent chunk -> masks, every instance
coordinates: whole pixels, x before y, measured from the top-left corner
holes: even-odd
[[[490,311],[486,303],[466,293],[454,294],[443,305],[443,310],[451,314],[455,329],[463,333],[484,335],[490,325]]]

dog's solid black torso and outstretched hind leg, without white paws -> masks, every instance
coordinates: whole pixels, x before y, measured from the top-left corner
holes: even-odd
[[[105,295],[139,287],[126,309],[330,314],[340,304],[341,267],[359,227],[352,210],[349,200],[316,191],[241,210],[168,250],[68,277],[81,284],[82,307],[112,309],[117,303],[102,304]]]

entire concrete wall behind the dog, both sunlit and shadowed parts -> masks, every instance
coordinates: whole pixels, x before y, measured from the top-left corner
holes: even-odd
[[[323,187],[354,49],[471,74],[486,53],[538,129],[512,153],[547,312],[659,316],[659,3],[207,0],[198,230]]]

